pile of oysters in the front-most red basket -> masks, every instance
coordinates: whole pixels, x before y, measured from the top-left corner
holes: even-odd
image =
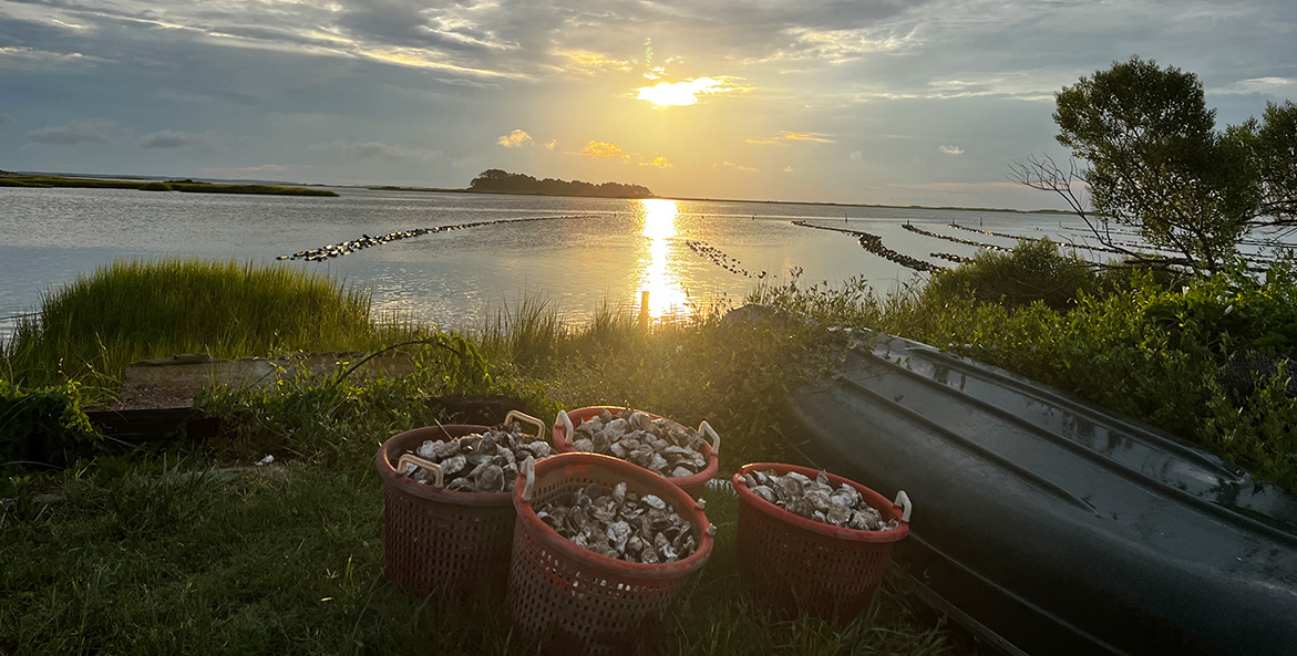
[[[534,506],[536,516],[573,545],[626,563],[674,563],[698,548],[693,524],[661,498],[619,482],[563,491]]]

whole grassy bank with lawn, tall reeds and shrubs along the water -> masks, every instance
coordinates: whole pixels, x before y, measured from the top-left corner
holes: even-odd
[[[777,410],[831,371],[840,333],[826,325],[949,347],[1297,481],[1284,360],[1297,344],[1297,284],[1281,267],[1265,280],[1100,275],[1031,245],[887,297],[864,283],[761,287],[751,301],[789,316],[765,323],[700,312],[646,332],[604,311],[567,325],[532,298],[467,338],[375,327],[367,296],[281,268],[117,264],[69,290],[6,353],[23,385],[51,386],[0,386],[0,423],[22,421],[73,460],[49,468],[5,454],[0,551],[17,556],[0,568],[0,653],[527,652],[488,607],[407,600],[384,583],[377,446],[457,419],[428,397],[494,393],[545,419],[598,403],[707,419],[726,437],[722,473],[795,458]],[[110,380],[132,358],[376,349],[415,336],[436,344],[405,347],[415,358],[406,379],[215,390],[201,406],[222,430],[202,443],[96,439],[77,411],[77,380]],[[252,467],[267,454],[274,464]],[[734,513],[730,497],[709,494],[716,550],[665,622],[665,653],[962,652],[890,587],[842,633],[757,617],[737,576]]]

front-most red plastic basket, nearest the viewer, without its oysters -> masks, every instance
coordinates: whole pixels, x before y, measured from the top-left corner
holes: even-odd
[[[532,510],[533,503],[591,482],[610,489],[625,482],[628,491],[660,497],[690,520],[698,550],[676,563],[626,563],[573,545]],[[536,463],[533,481],[524,484],[520,477],[514,486],[514,507],[510,613],[523,635],[545,642],[546,653],[651,648],[663,613],[712,552],[711,524],[694,499],[663,477],[607,455],[560,454]]]

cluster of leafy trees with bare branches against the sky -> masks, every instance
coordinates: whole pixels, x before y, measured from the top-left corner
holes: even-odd
[[[1214,271],[1252,227],[1297,227],[1297,106],[1215,128],[1192,73],[1131,57],[1054,95],[1057,140],[1075,158],[1014,162],[1010,178],[1062,196],[1101,242],[1136,263]],[[1082,163],[1078,163],[1082,162]],[[1086,193],[1088,191],[1088,202]],[[1112,239],[1109,222],[1179,253],[1149,258]]]

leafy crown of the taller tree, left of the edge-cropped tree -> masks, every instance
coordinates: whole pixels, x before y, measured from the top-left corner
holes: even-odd
[[[1214,127],[1192,73],[1131,57],[1056,93],[1058,143],[1089,170],[1095,211],[1215,268],[1255,215],[1258,166]]]

